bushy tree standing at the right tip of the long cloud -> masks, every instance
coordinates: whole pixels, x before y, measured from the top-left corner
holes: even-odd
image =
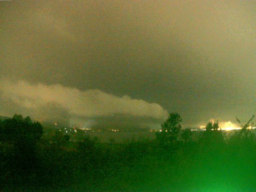
[[[166,121],[161,124],[161,132],[156,134],[157,139],[161,142],[176,142],[182,128],[180,122],[182,122],[180,114],[170,113]]]

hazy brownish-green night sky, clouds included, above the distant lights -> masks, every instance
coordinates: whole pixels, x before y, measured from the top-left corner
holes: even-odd
[[[0,1],[0,115],[81,127],[246,122],[256,2]]]

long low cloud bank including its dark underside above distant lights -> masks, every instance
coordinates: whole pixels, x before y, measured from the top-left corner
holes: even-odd
[[[100,119],[103,125],[103,118],[115,119],[117,122],[124,117],[129,117],[129,122],[134,121],[132,119],[144,119],[144,124],[145,119],[161,122],[168,115],[168,112],[156,103],[132,99],[129,96],[117,97],[96,89],[82,91],[60,84],[30,84],[25,81],[12,82],[2,79],[0,98],[2,115],[10,116],[10,113],[15,112],[40,120],[66,121],[70,124],[87,122],[85,124],[88,126],[98,124],[97,119]],[[133,124],[136,126],[140,123],[140,120],[137,120]]]

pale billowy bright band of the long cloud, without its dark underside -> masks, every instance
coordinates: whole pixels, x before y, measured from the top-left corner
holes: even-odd
[[[87,118],[122,114],[164,120],[168,116],[167,110],[156,103],[132,99],[129,96],[118,97],[96,89],[82,91],[60,84],[30,84],[25,81],[12,82],[1,79],[0,98],[26,111],[44,110],[54,104],[65,110],[69,116]],[[12,107],[10,106],[10,110]],[[2,107],[0,113],[14,113],[7,112],[8,109],[7,106]]]

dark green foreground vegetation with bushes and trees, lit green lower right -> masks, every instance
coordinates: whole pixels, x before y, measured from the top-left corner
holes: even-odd
[[[15,115],[0,122],[0,190],[205,192],[256,190],[256,137],[242,129],[225,138],[218,122],[195,135],[171,113],[156,140],[70,142]],[[238,119],[237,119],[238,120]],[[238,120],[239,121],[239,120]]]

